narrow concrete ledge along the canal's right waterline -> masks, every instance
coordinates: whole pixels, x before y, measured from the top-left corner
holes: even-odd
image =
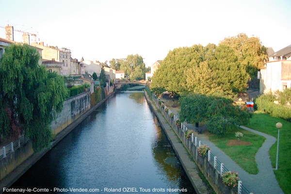
[[[182,166],[190,179],[195,191],[197,194],[210,194],[211,188],[207,186],[207,184],[200,178],[199,176],[199,168],[197,167],[196,163],[191,160],[187,150],[182,145],[181,141],[179,140],[178,136],[174,132],[174,130],[171,128],[171,126],[168,124],[168,122],[163,117],[162,113],[158,111],[156,106],[151,101],[150,97],[148,97],[146,91],[145,91],[146,100],[149,104],[149,107],[151,110],[155,113],[157,116],[157,119],[159,120],[162,129],[165,131],[169,141],[171,142],[171,145],[173,146],[176,155],[178,156],[180,162],[182,163]]]

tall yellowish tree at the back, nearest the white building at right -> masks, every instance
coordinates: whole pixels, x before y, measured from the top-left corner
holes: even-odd
[[[234,49],[239,63],[244,66],[252,80],[257,77],[257,71],[264,66],[268,57],[267,49],[261,45],[260,39],[258,37],[248,37],[245,33],[227,37],[220,42],[220,45],[226,45]]]

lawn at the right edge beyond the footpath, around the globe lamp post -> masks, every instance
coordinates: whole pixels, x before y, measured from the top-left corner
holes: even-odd
[[[277,181],[285,194],[291,194],[291,122],[270,116],[269,114],[256,111],[246,127],[261,131],[263,133],[278,137],[275,127],[280,122],[283,127],[280,129],[279,141],[279,162],[278,170],[274,170]],[[270,158],[275,169],[277,143],[270,149]]]

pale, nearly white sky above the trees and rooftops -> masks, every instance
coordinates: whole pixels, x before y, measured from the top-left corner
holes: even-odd
[[[239,33],[283,49],[291,45],[290,8],[291,0],[0,0],[0,26],[36,33],[79,61],[138,54],[150,66],[175,48]],[[22,32],[14,34],[21,42]]]

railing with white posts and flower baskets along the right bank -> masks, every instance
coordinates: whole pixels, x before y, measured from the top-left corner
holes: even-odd
[[[156,107],[160,110],[160,112],[163,114],[164,118],[167,120],[167,122],[171,125],[172,129],[176,130],[176,134],[180,136],[179,138],[183,138],[185,136],[185,132],[188,130],[185,125],[181,123],[181,126],[176,125],[176,121],[178,120],[178,115],[174,115],[173,118],[170,116],[172,113],[166,105],[162,103],[161,100],[159,100],[155,94],[152,94],[152,100],[155,102]],[[166,108],[168,108],[168,112],[166,112]],[[183,141],[182,141],[183,142]],[[193,145],[194,149],[197,149],[198,146],[203,145],[201,141],[198,140],[197,137],[194,136],[192,133],[191,138],[191,145]],[[184,144],[184,146],[187,147],[187,145]],[[192,147],[192,146],[190,146]],[[192,151],[192,153],[194,153]],[[226,168],[224,163],[220,162],[216,156],[213,155],[213,153],[209,150],[209,152],[206,154],[206,157],[208,158],[208,162],[214,167],[215,170],[218,171],[220,175],[224,174],[225,172],[228,172],[229,170]],[[233,187],[232,190],[234,192],[237,192],[238,194],[250,194],[250,191],[242,184],[242,181],[238,181],[238,185],[236,187]]]

